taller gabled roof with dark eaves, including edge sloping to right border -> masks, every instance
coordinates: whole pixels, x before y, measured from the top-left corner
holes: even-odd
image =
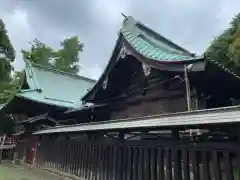
[[[118,59],[122,58],[122,53],[133,55],[148,66],[163,71],[183,71],[184,64],[193,63],[196,71],[204,71],[206,64],[214,64],[231,76],[240,79],[239,76],[217,61],[204,55],[195,56],[141,22],[136,21],[133,17],[125,16],[108,65],[95,86],[82,98],[83,101],[94,102],[96,92],[101,89],[108,75],[114,70]]]

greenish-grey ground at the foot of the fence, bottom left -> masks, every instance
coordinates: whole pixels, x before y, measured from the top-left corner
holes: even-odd
[[[70,180],[40,168],[0,164],[0,180]]]

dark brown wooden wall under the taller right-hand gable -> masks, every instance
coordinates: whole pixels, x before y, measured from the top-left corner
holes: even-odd
[[[131,86],[122,92],[126,97],[112,103],[111,119],[186,111],[185,86],[172,77],[174,74],[153,70],[150,77],[142,76],[144,85],[139,83],[140,78],[132,79]]]

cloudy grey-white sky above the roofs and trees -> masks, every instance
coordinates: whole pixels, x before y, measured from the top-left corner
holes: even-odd
[[[0,18],[24,68],[21,49],[34,38],[59,48],[67,37],[84,43],[80,75],[97,79],[118,38],[123,17],[133,16],[161,35],[201,55],[240,12],[239,0],[1,0]]]

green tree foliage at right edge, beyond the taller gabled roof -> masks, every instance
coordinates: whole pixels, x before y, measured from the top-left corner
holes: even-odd
[[[211,43],[206,54],[240,74],[240,13],[222,34]]]

